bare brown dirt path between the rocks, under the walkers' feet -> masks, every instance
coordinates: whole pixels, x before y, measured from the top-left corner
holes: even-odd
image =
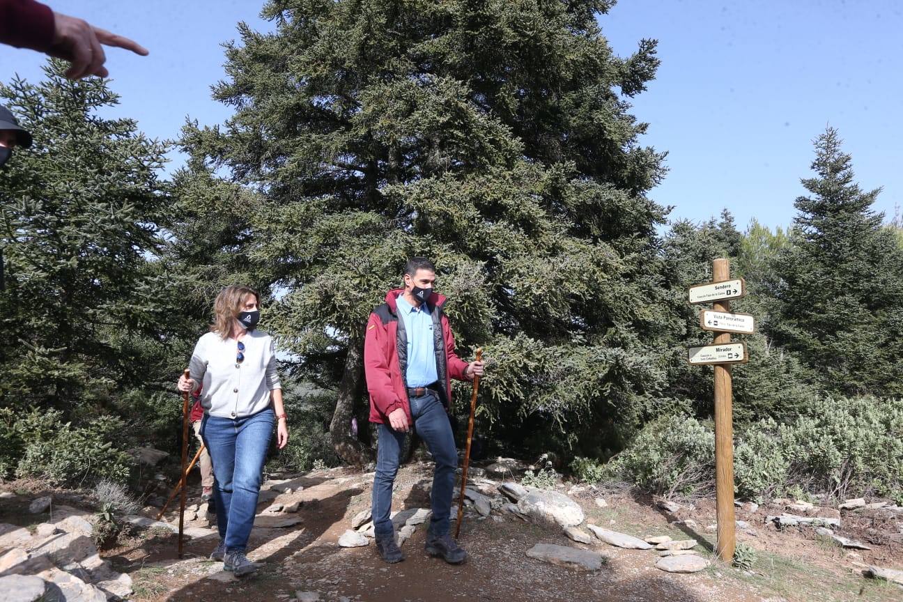
[[[396,508],[428,507],[430,476],[430,468],[423,465],[403,468],[396,482]],[[577,544],[562,533],[525,523],[512,514],[466,517],[461,544],[470,557],[464,565],[454,567],[427,557],[425,525],[421,525],[403,546],[406,560],[390,566],[377,558],[372,544],[353,549],[337,544],[340,534],[349,528],[350,517],[369,506],[371,481],[372,476],[333,469],[285,484],[294,489],[303,486],[301,491],[265,494],[271,499],[266,499],[261,509],[271,504],[273,497],[277,503],[302,502],[297,513],[302,520],[286,528],[255,527],[249,556],[261,562],[262,569],[249,579],[237,580],[220,570],[221,563],[206,560],[216,545],[215,537],[188,542],[186,560],[176,559],[174,537],[170,535],[135,542],[115,551],[111,560],[118,570],[129,572],[135,579],[133,599],[147,602],[289,601],[299,591],[316,592],[324,602],[899,599],[897,586],[862,579],[838,560],[836,550],[806,542],[803,535],[780,533],[789,553],[770,551],[769,547],[774,547],[771,534],[759,535],[765,532],[764,525],[755,536],[740,534],[740,541],[749,540],[760,550],[747,573],[718,561],[691,575],[666,573],[655,568],[654,551],[622,550],[601,542]],[[613,496],[608,498],[609,507],[599,508],[589,493],[572,491],[588,521],[640,537],[687,537],[685,527],[681,531],[669,524],[668,517],[648,500]],[[696,512],[701,525],[706,524],[707,512],[704,507]],[[711,536],[691,533],[703,545],[711,545]],[[528,558],[526,551],[540,542],[591,549],[607,561],[601,570],[583,572]]]

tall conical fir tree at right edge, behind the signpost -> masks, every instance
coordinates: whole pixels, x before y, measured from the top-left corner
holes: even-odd
[[[871,206],[880,189],[853,181],[837,131],[815,141],[810,196],[796,199],[793,245],[777,259],[771,335],[828,390],[903,393],[903,253]]]

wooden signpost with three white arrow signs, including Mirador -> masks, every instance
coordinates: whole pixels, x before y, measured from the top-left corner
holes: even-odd
[[[712,282],[690,287],[691,303],[712,303],[702,310],[699,325],[715,332],[712,345],[690,347],[687,361],[694,366],[712,365],[715,371],[715,503],[718,542],[715,553],[721,560],[733,560],[737,544],[733,505],[733,419],[731,417],[731,365],[748,360],[745,343],[732,343],[731,332],[752,334],[755,320],[745,313],[731,313],[731,299],[746,294],[743,279],[731,280],[727,259],[712,262]]]

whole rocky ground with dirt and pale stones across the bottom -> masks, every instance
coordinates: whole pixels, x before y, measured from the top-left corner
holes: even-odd
[[[460,537],[470,556],[455,567],[424,552],[431,475],[428,463],[399,472],[394,521],[407,559],[391,566],[371,539],[372,473],[334,468],[267,481],[249,553],[260,571],[240,580],[207,560],[218,538],[204,506],[189,506],[182,560],[177,514],[158,523],[153,507],[129,517],[133,533],[98,554],[84,497],[34,483],[0,486],[0,591],[26,602],[903,597],[893,581],[903,581],[894,572],[903,568],[903,509],[886,501],[742,504],[738,542],[752,552],[738,569],[712,555],[711,500],[673,505],[561,483],[528,489],[518,485],[517,463],[503,463],[471,472]]]

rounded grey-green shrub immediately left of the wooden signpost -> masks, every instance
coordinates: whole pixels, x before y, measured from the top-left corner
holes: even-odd
[[[714,433],[694,418],[649,422],[610,462],[612,475],[657,495],[707,495],[714,485]]]

